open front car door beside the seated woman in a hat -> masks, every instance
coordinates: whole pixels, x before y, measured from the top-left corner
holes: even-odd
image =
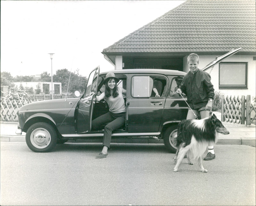
[[[97,92],[99,74],[100,66],[93,69],[90,73],[84,94],[76,105],[75,129],[77,134],[86,133],[91,130],[93,98]]]

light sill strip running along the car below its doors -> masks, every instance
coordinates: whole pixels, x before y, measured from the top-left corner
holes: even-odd
[[[73,138],[78,138],[78,137],[103,137],[103,133],[98,133],[98,134],[62,134],[62,137],[73,137]],[[160,132],[152,132],[152,133],[113,133],[111,136],[118,136],[118,137],[147,137],[147,136],[158,136],[160,135]]]

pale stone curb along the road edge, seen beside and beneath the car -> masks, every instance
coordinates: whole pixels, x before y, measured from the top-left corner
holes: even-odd
[[[26,142],[26,136],[25,135],[1,135],[0,136],[0,141],[1,142]],[[160,141],[154,140],[154,139],[134,139],[132,140],[132,143],[154,143],[154,144],[163,144],[163,140],[160,139]],[[69,140],[68,142],[73,142],[73,143],[86,143],[86,142],[91,142],[95,143],[98,142],[97,140],[92,141],[92,140],[77,140],[77,141],[72,141]],[[112,143],[131,143],[130,139],[113,139],[111,141]],[[256,146],[256,138],[219,138],[217,144],[236,144],[236,145],[249,145],[249,146]]]

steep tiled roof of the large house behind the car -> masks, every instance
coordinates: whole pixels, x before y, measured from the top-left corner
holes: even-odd
[[[255,0],[188,0],[105,52],[255,52]]]

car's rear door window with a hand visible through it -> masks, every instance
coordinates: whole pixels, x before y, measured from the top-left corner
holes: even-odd
[[[133,76],[132,97],[162,97],[166,80],[161,76]]]

